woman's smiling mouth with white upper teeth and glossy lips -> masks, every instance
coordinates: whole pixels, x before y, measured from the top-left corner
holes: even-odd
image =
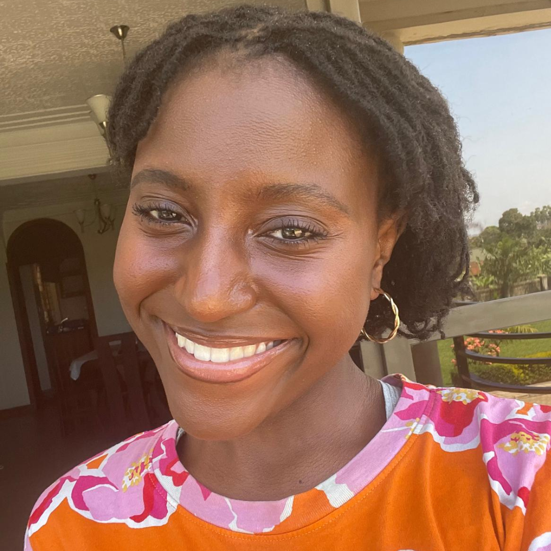
[[[207,382],[237,382],[266,367],[296,339],[250,342],[241,346],[207,346],[176,332],[165,323],[169,351],[186,375]],[[218,344],[218,343],[217,343]]]

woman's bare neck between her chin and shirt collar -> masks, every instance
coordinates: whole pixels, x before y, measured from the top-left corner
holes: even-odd
[[[379,382],[347,355],[293,404],[227,441],[183,435],[180,460],[209,490],[272,501],[314,488],[352,459],[385,423]]]

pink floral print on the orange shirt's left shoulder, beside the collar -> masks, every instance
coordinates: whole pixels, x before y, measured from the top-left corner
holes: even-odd
[[[63,503],[72,512],[96,522],[120,521],[131,526],[141,522],[142,516],[148,517],[147,494],[152,494],[154,486],[154,464],[166,457],[170,440],[174,446],[176,432],[176,422],[171,421],[136,434],[56,480],[41,494],[31,512],[27,527],[31,542],[33,534],[52,521]],[[160,515],[166,516],[162,509]]]

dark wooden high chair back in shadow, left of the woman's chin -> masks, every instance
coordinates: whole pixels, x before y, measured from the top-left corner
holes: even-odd
[[[138,339],[133,332],[95,340],[104,381],[109,427],[114,435],[129,436],[152,428],[145,404]],[[113,346],[120,343],[120,347]]]

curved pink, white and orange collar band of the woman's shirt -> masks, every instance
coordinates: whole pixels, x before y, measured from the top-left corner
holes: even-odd
[[[407,409],[423,397],[426,406],[412,422],[392,414],[381,430],[347,464],[315,488],[275,501],[246,501],[226,498],[204,487],[186,471],[176,452],[179,426],[170,422],[160,435],[164,454],[153,462],[157,482],[175,507],[181,506],[199,519],[220,528],[249,534],[285,533],[299,530],[341,507],[364,490],[406,444],[415,424],[429,411],[431,392],[411,383],[403,375],[389,375],[383,381],[402,386],[395,412]],[[404,437],[404,429],[407,434]]]

